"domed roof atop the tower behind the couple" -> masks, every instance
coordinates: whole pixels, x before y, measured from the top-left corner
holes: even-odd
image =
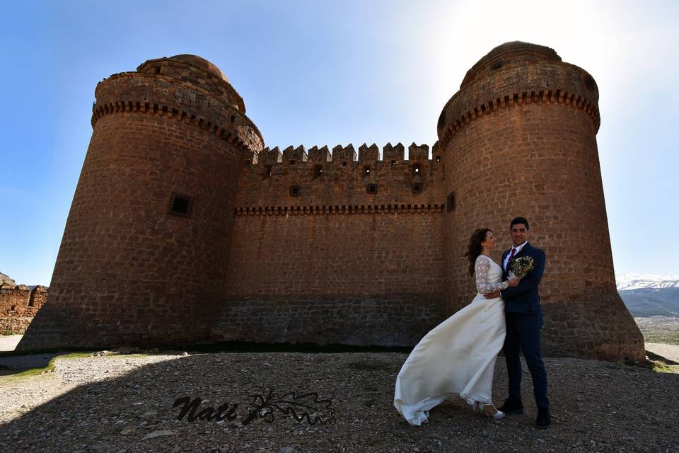
[[[491,71],[496,71],[509,64],[521,62],[560,62],[561,57],[554,49],[544,45],[530,44],[530,42],[511,41],[505,42],[487,53],[472,68],[467,71],[460,88],[476,79],[486,76]]]

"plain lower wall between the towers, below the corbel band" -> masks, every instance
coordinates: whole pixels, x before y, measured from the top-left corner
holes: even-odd
[[[236,217],[215,340],[412,345],[446,318],[443,213]]]

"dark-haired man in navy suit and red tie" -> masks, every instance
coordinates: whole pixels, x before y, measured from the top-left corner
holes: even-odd
[[[504,338],[504,357],[509,374],[509,398],[504,406],[498,408],[507,414],[523,413],[521,402],[521,360],[523,351],[526,365],[533,377],[533,395],[538,406],[537,428],[547,428],[551,423],[550,401],[547,399],[547,371],[540,355],[540,329],[542,329],[542,306],[538,285],[545,272],[545,252],[528,243],[528,220],[516,217],[511,221],[509,230],[513,247],[502,254],[503,280],[506,280],[511,262],[522,256],[533,258],[535,268],[531,270],[517,287],[502,289],[494,294],[486,294],[487,299],[501,296],[505,304],[507,334]]]

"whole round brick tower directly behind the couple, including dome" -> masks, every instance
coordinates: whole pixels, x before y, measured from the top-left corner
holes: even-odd
[[[476,292],[463,257],[472,231],[494,230],[499,263],[521,215],[547,255],[545,354],[643,360],[642,335],[615,288],[598,127],[596,82],[549,47],[508,42],[468,71],[438,125],[451,208],[447,299],[453,312]]]

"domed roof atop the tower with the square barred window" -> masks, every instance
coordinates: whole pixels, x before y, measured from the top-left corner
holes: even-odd
[[[137,67],[137,72],[160,74],[199,86],[221,96],[245,113],[245,103],[228,79],[214,64],[197,55],[181,54],[174,57],[149,59]]]

